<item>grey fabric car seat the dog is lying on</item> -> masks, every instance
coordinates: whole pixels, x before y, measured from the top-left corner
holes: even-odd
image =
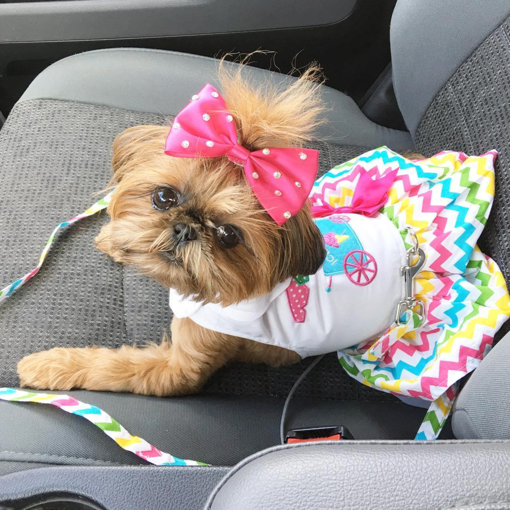
[[[489,13],[481,3],[465,10],[453,0],[434,4],[400,1],[392,20],[394,86],[409,133],[374,124],[349,97],[323,87],[330,110],[320,133],[327,142],[315,144],[320,169],[382,144],[395,150],[416,146],[427,155],[445,148],[498,149],[498,192],[483,248],[508,278],[510,5],[492,2]],[[36,78],[0,132],[0,229],[9,239],[0,246],[1,282],[33,267],[54,225],[94,201],[93,193],[110,176],[113,138],[131,125],[168,122],[192,93],[215,82],[216,65],[172,52],[108,49],[64,59]],[[247,72],[254,80],[287,80],[259,69]],[[166,291],[93,248],[105,221],[104,215],[88,218],[63,234],[45,269],[3,306],[0,386],[18,384],[16,363],[30,352],[161,337],[171,318]],[[502,340],[498,351],[499,359],[510,357],[510,339]],[[510,404],[504,385],[483,369],[495,359],[496,350],[459,397],[453,416],[457,438],[510,437],[508,423],[503,426],[494,414],[480,426],[480,416],[493,413],[489,405],[508,409]],[[278,370],[231,365],[191,397],[70,394],[103,407],[164,451],[232,465],[278,443],[283,397],[309,363]],[[476,398],[482,387],[492,400]],[[359,440],[412,439],[425,413],[359,385],[334,356],[314,370],[298,397],[291,427],[333,422]],[[0,474],[47,464],[141,463],[84,420],[47,407],[0,402]],[[446,427],[442,437],[453,438],[452,430]]]

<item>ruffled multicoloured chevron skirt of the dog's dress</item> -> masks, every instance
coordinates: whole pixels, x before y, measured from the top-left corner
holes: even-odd
[[[425,317],[412,313],[382,337],[338,351],[338,358],[364,385],[433,401],[416,439],[439,435],[456,382],[478,366],[510,315],[503,275],[476,245],[492,207],[496,156],[443,151],[411,161],[381,147],[334,167],[312,190],[312,202],[350,206],[360,172],[377,179],[397,170],[379,212],[409,246],[411,227],[425,251],[414,286]]]

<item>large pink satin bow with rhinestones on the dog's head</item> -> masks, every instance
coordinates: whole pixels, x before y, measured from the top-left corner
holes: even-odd
[[[239,145],[225,99],[209,84],[175,118],[165,154],[176,158],[226,156],[244,168],[253,193],[279,225],[303,207],[319,166],[317,150],[270,147],[251,152]]]

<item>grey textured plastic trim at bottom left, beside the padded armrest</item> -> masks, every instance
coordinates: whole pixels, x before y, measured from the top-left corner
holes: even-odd
[[[81,503],[83,510],[87,503],[91,510],[90,504],[107,510],[200,510],[228,471],[193,466],[33,469],[0,476],[0,509],[21,510],[33,502],[67,498]]]

